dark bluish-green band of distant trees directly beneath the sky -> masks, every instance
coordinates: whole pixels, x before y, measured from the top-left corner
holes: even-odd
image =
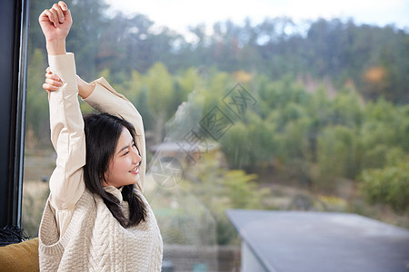
[[[37,23],[50,0],[32,0],[30,53],[45,50]],[[350,20],[318,19],[297,25],[290,18],[265,18],[254,24],[217,22],[213,32],[205,24],[189,27],[195,42],[158,27],[146,15],[108,15],[104,1],[67,1],[74,15],[67,48],[77,56],[78,73],[92,80],[106,68],[112,82],[122,83],[133,71],[145,73],[164,63],[177,73],[189,67],[216,67],[234,73],[264,73],[271,80],[286,75],[330,78],[341,88],[350,82],[367,99],[383,96],[394,103],[409,102],[409,34],[393,25],[355,24]],[[290,30],[290,31],[289,31]]]

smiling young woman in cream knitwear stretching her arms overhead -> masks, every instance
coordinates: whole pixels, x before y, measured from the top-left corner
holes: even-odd
[[[51,140],[57,153],[39,229],[41,271],[160,271],[163,243],[142,194],[145,132],[134,105],[103,78],[85,83],[65,52],[64,2],[39,17],[49,69]],[[99,114],[80,112],[77,95]]]

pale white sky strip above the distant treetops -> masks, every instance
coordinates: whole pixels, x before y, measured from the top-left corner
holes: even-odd
[[[245,17],[254,24],[265,17],[287,16],[294,22],[314,20],[319,17],[353,18],[357,24],[384,26],[394,24],[409,29],[409,0],[105,0],[111,5],[109,13],[122,11],[125,15],[147,15],[157,26],[166,25],[181,33],[187,33],[187,25],[230,19],[241,24]]]

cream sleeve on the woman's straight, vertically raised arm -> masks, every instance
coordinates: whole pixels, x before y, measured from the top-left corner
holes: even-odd
[[[50,204],[55,209],[61,236],[85,190],[85,132],[77,98],[74,54],[49,55],[48,63],[63,82],[48,95],[51,141],[57,154],[50,178]]]

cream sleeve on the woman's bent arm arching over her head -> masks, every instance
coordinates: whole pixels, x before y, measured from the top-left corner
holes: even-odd
[[[121,93],[115,92],[114,88],[104,78],[100,78],[91,84],[95,85],[95,89],[94,92],[84,99],[86,103],[98,112],[106,112],[118,116],[134,125],[136,146],[142,156],[138,187],[139,190],[143,191],[145,184],[146,152],[145,130],[142,116],[135,109],[134,104],[129,102]]]

